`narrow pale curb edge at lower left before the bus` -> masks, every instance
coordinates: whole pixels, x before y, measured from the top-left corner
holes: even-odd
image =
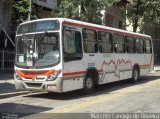
[[[0,94],[0,99],[14,97],[14,96],[23,95],[23,94],[29,94],[29,93],[30,93],[29,91],[4,93],[4,94]]]

